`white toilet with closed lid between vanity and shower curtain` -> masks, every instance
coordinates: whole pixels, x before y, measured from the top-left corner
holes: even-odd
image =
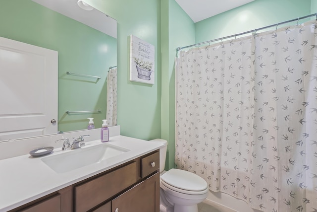
[[[198,212],[197,204],[207,198],[208,185],[200,176],[181,169],[164,171],[167,141],[159,148],[159,212]]]

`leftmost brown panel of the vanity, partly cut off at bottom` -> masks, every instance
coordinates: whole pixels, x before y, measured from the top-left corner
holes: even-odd
[[[36,203],[20,212],[60,212],[60,195]]]

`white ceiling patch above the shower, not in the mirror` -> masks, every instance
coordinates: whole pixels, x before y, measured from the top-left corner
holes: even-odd
[[[176,0],[196,23],[254,0]]]

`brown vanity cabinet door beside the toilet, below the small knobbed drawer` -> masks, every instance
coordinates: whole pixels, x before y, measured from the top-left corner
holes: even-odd
[[[159,172],[113,199],[111,212],[159,212]]]

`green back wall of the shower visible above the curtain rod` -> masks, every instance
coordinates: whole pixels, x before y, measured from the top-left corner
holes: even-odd
[[[200,43],[276,24],[310,13],[311,0],[255,0],[197,22],[195,24],[195,39],[196,43]]]

